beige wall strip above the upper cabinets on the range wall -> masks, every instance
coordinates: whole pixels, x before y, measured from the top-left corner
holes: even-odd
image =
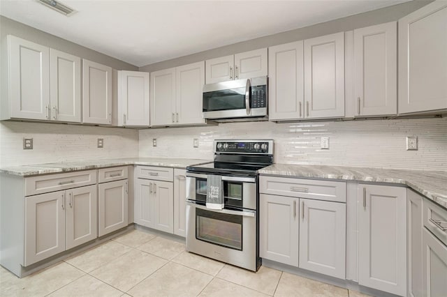
[[[307,38],[313,38],[316,36],[323,36],[326,34],[337,33],[341,31],[350,31],[356,28],[362,28],[365,26],[372,26],[374,24],[382,24],[386,22],[393,22],[399,20],[404,15],[427,5],[432,1],[410,1],[387,8],[381,8],[378,10],[372,10],[367,13],[360,13],[358,15],[351,15],[349,17],[343,17],[341,19],[332,20],[330,22],[324,22],[321,24],[315,24],[313,26],[307,26],[305,28],[286,31],[283,33],[277,33],[270,36],[247,40],[242,43],[235,43],[233,45],[226,45],[224,47],[218,47],[213,50],[207,50],[205,52],[198,52],[189,56],[182,56],[177,59],[171,59],[168,61],[162,61],[147,66],[140,67],[140,71],[152,72],[155,70],[161,70],[171,68],[175,66],[186,65],[206,59],[217,58],[219,56],[226,56],[229,54],[236,54],[238,52],[247,52],[249,50],[256,50],[262,47],[270,47],[272,45],[281,45],[283,43],[291,43],[297,40],[304,40]],[[216,32],[219,34],[219,32]]]

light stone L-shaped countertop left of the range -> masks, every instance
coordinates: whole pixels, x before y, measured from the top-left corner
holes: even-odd
[[[186,159],[186,158],[122,158],[101,159],[75,162],[57,162],[36,165],[20,165],[1,167],[0,172],[17,176],[32,176],[38,174],[53,174],[60,172],[73,172],[77,170],[98,169],[123,165],[147,165],[159,167],[175,167],[185,169],[190,165],[199,165],[212,162],[212,160]]]

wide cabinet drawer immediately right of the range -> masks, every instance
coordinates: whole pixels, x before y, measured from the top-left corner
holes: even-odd
[[[261,176],[259,192],[264,194],[346,202],[346,183],[301,178]]]

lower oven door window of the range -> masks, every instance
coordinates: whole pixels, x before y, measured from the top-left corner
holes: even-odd
[[[228,215],[196,208],[196,238],[242,250],[242,215]]]

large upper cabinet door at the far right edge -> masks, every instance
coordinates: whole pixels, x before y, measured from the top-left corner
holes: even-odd
[[[447,109],[447,3],[399,20],[399,113]]]

